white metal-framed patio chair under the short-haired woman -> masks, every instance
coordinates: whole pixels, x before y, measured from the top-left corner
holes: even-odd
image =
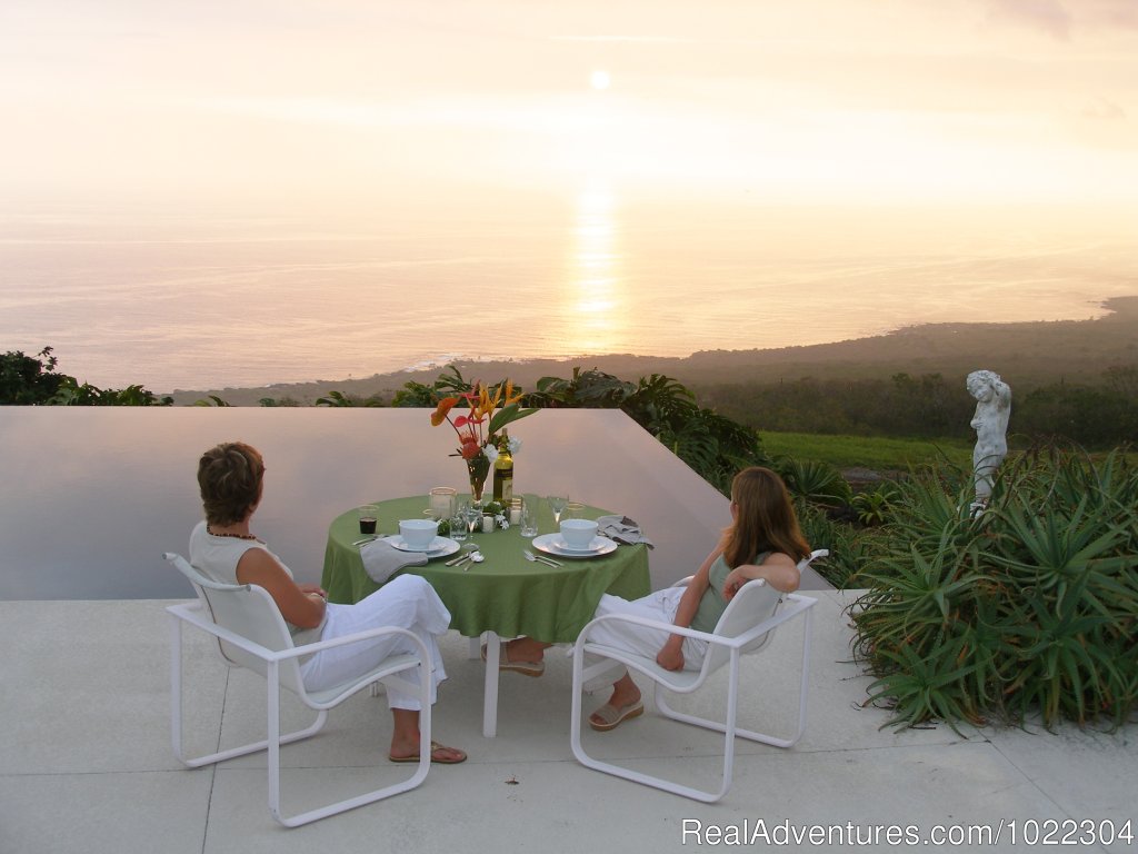
[[[287,827],[298,827],[329,815],[371,804],[391,795],[407,791],[419,786],[430,769],[430,651],[412,632],[395,626],[384,626],[365,632],[336,638],[333,640],[294,646],[288,625],[269,592],[256,584],[222,584],[198,572],[180,555],[166,552],[172,563],[189,578],[198,594],[198,601],[172,605],[166,608],[172,621],[171,656],[171,728],[174,755],[189,767],[200,767],[224,762],[236,756],[269,750],[269,808],[273,816]],[[225,664],[246,667],[259,673],[266,680],[269,695],[267,738],[241,747],[190,758],[182,749],[182,624],[189,623],[217,639],[218,651]],[[299,658],[321,649],[353,643],[382,634],[405,634],[419,648],[417,655],[397,655],[387,658],[379,667],[344,684],[322,691],[308,691],[300,680]],[[399,674],[422,667],[419,684],[402,679]],[[339,800],[316,810],[286,816],[280,808],[280,748],[281,745],[299,741],[314,736],[324,725],[328,709],[337,706],[356,691],[377,681],[396,683],[406,691],[418,691],[422,703],[420,712],[419,765],[409,779],[384,788],[374,789],[356,797]],[[295,732],[280,731],[280,688],[295,693],[304,705],[318,712],[312,725]]]

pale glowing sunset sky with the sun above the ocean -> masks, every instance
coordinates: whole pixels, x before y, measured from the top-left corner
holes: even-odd
[[[0,206],[1138,198],[1136,0],[5,0]]]

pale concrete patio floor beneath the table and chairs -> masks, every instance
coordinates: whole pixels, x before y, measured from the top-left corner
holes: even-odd
[[[1062,728],[1058,734],[948,726],[896,733],[865,709],[868,678],[849,663],[842,613],[853,594],[810,591],[815,608],[810,712],[798,746],[740,742],[734,786],[703,805],[589,771],[569,748],[569,662],[551,652],[542,679],[503,674],[498,737],[480,734],[481,663],[457,634],[444,639],[450,680],[435,732],[467,749],[411,793],[287,830],[266,806],[264,755],[185,770],[170,746],[167,616],[158,600],[0,602],[0,852],[222,854],[223,852],[666,852],[711,847],[714,828],[762,849],[778,834],[824,832],[827,849],[884,851],[885,828],[912,828],[923,847],[938,826],[998,844],[945,849],[1023,851],[1047,820],[1138,822],[1135,731]],[[187,632],[187,739],[205,753],[264,724],[264,682],[226,671]],[[750,674],[740,707],[761,725],[790,720],[801,635],[784,631]],[[716,705],[716,699],[700,700]],[[588,698],[586,707],[600,698]],[[303,709],[286,698],[286,720]],[[303,720],[307,720],[306,717]],[[331,713],[325,731],[286,747],[284,803],[306,808],[374,787],[407,766],[385,758],[390,716],[364,691]],[[611,733],[587,733],[599,753],[711,785],[721,740],[651,712]],[[346,794],[346,793],[345,793]],[[702,829],[696,835],[696,822]],[[1017,839],[1012,843],[1011,822]],[[1032,822],[1039,822],[1032,824]],[[848,823],[851,823],[848,826]],[[1062,827],[1062,824],[1059,826]],[[879,828],[876,844],[861,844]],[[972,828],[970,831],[968,828]],[[686,834],[685,834],[686,829]],[[764,830],[766,836],[764,836]],[[752,838],[758,831],[758,836]],[[844,844],[838,844],[841,839]],[[791,846],[778,846],[791,847]],[[809,847],[809,846],[806,846]],[[931,847],[931,846],[930,846]],[[1080,845],[1131,851],[1132,845]]]

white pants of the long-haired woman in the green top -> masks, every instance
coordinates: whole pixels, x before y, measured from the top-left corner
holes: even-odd
[[[675,623],[676,610],[679,608],[679,600],[683,597],[683,588],[666,588],[633,601],[605,593],[601,597],[601,601],[597,603],[593,616],[627,614],[661,623]],[[593,626],[588,633],[588,640],[591,641],[653,659],[670,637],[671,632],[666,629],[650,629],[649,626],[636,625],[635,623],[620,623],[617,621],[609,621]],[[703,665],[703,656],[707,655],[708,642],[698,638],[684,638],[682,650],[684,654],[684,670],[699,670]],[[592,663],[601,659],[596,656],[589,656],[588,660]],[[624,676],[626,672],[624,667],[605,671],[596,679],[592,679],[585,683],[585,690],[596,691],[607,684],[612,684]]]

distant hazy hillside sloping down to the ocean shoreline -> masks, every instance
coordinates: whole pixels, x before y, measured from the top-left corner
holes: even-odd
[[[533,388],[541,377],[568,377],[575,366],[597,368],[621,379],[666,373],[684,385],[740,380],[778,381],[879,378],[906,372],[964,376],[978,368],[1003,375],[1017,389],[1064,380],[1097,383],[1112,366],[1138,364],[1138,296],[1104,303],[1111,313],[1098,320],[1030,323],[930,323],[906,327],[872,338],[836,344],[776,350],[721,350],[693,353],[685,359],[609,354],[558,361],[459,362],[468,378],[497,381],[511,377]],[[193,403],[215,394],[232,405],[257,405],[262,397],[311,404],[331,389],[368,397],[389,396],[409,380],[430,383],[438,369],[377,373],[366,379],[279,384],[266,388],[222,388],[176,392],[175,403]]]

